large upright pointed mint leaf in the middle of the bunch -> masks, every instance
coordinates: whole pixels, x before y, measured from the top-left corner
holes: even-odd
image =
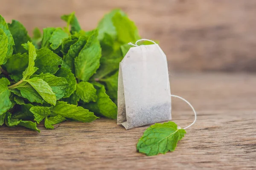
[[[99,68],[101,47],[97,36],[98,31],[92,31],[86,45],[80,51],[78,57],[75,58],[76,78],[81,79],[84,82],[88,81]]]

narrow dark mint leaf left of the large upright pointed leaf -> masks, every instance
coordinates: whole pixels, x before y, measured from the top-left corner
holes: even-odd
[[[70,46],[67,54],[63,57],[63,67],[75,71],[74,60],[79,56],[80,51],[84,48],[87,38],[82,36],[79,37],[76,43]]]

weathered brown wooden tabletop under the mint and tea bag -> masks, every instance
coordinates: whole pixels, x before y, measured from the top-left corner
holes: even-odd
[[[41,133],[0,127],[0,170],[256,169],[256,74],[172,74],[172,94],[188,99],[198,121],[174,152],[145,156],[136,144],[148,127],[125,130],[116,120],[64,122]],[[173,121],[194,119],[172,100]]]

